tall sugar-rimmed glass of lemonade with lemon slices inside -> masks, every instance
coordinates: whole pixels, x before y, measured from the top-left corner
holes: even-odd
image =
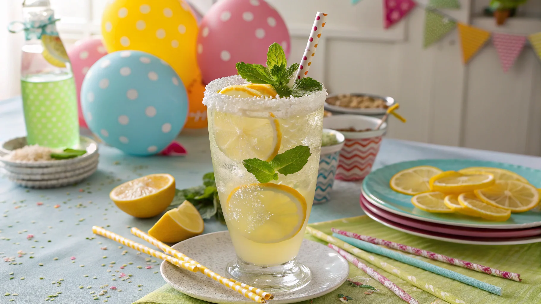
[[[237,256],[226,272],[274,294],[294,291],[311,279],[310,270],[295,258],[312,209],[326,90],[280,99],[217,93],[243,83],[240,76],[216,79],[203,99],[216,186]],[[311,154],[298,172],[282,171],[260,183],[247,170],[246,161],[270,161],[299,146]]]

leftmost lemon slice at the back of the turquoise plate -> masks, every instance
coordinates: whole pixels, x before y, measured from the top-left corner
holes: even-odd
[[[389,182],[392,190],[407,195],[430,191],[428,181],[442,171],[432,166],[418,166],[394,174]]]

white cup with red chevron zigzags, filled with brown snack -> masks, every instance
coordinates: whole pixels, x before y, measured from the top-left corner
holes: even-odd
[[[333,130],[354,128],[355,130],[375,129],[381,119],[362,115],[337,115],[324,118],[323,126]],[[345,143],[340,150],[336,179],[361,180],[370,173],[378,155],[381,138],[387,130],[384,123],[380,130],[345,132]]]

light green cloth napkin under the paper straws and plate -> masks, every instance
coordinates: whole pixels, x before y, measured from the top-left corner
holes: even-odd
[[[444,278],[443,276],[424,271],[414,266],[403,264],[401,262],[380,256],[382,260],[385,260],[391,265],[400,267],[403,271],[411,273],[418,278],[422,278],[424,281],[434,286],[439,286],[444,291],[450,292],[460,299],[469,304],[476,303],[491,303],[491,304],[523,304],[523,303],[541,303],[541,243],[526,244],[526,245],[510,245],[510,246],[480,246],[480,245],[464,245],[454,244],[450,242],[443,242],[431,239],[425,239],[416,237],[407,233],[396,231],[388,228],[378,222],[368,218],[366,215],[354,218],[345,218],[327,222],[319,222],[311,224],[320,231],[332,234],[331,228],[336,227],[345,231],[352,231],[359,234],[371,235],[385,240],[394,242],[400,242],[402,244],[428,249],[433,252],[452,256],[453,258],[460,258],[466,261],[476,262],[481,265],[491,266],[501,270],[520,273],[522,282],[515,282],[497,276],[484,274],[470,269],[461,268],[445,264],[439,261],[433,261],[423,257],[410,255],[420,260],[430,262],[434,265],[451,269],[458,273],[471,276],[478,280],[491,283],[493,285],[503,288],[503,296],[491,294],[489,292],[482,291],[481,289],[466,285],[464,283]],[[309,234],[305,235],[305,238],[314,240],[325,244],[325,242],[315,239]],[[408,254],[409,255],[409,254]],[[196,257],[195,257],[196,258]],[[403,288],[407,293],[413,296],[419,303],[440,303],[445,304],[447,302],[441,300],[438,302],[438,298],[422,291],[421,289],[401,280],[390,273],[370,264],[367,261],[359,259],[367,264],[369,267],[374,268],[376,271],[385,275],[388,279],[395,284]],[[367,288],[352,287],[349,282],[345,282],[337,290],[328,293],[319,298],[311,301],[300,302],[302,304],[326,304],[326,303],[340,303],[338,300],[338,294],[348,295],[353,298],[353,303],[385,303],[385,304],[403,304],[403,300],[398,298],[395,294],[382,286],[378,281],[370,278],[366,273],[362,272],[357,267],[349,264],[349,276],[348,278],[355,278],[358,276],[357,281],[362,278],[369,278],[367,284],[379,288],[379,292],[373,294],[365,294]],[[222,288],[216,286],[216,288]],[[190,298],[169,285],[157,289],[154,292],[149,293],[142,299],[136,301],[134,304],[204,304],[206,301]]]

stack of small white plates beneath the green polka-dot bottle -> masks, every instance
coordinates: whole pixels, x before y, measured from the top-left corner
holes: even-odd
[[[87,153],[77,158],[49,161],[11,161],[1,158],[12,150],[27,145],[25,137],[5,141],[0,147],[0,167],[14,183],[28,188],[56,188],[78,183],[97,170],[98,146],[81,136],[80,150]]]

